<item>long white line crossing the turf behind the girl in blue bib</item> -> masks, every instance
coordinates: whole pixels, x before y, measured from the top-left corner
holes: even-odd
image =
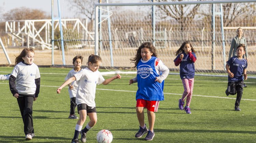
[[[9,84],[9,83],[0,83],[0,84]],[[58,88],[59,86],[49,86],[49,85],[40,85],[43,87],[53,87]],[[64,88],[68,88],[67,86]],[[137,92],[137,91],[128,91],[128,90],[111,90],[111,89],[97,89],[97,90],[106,90],[106,91],[121,91],[121,92]],[[177,93],[163,93],[163,94],[170,94],[170,95],[182,95]],[[193,96],[200,96],[200,97],[211,97],[211,98],[226,98],[226,99],[236,99],[236,98],[229,98],[229,97],[219,97],[219,96],[207,96],[207,95],[194,95]],[[241,100],[248,100],[248,101],[256,101],[256,99],[241,99]]]

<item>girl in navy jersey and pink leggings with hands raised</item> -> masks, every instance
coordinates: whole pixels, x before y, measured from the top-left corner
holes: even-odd
[[[193,93],[195,76],[194,63],[196,62],[197,57],[195,50],[189,41],[183,42],[181,47],[175,52],[175,55],[177,55],[177,57],[174,60],[174,64],[175,66],[180,65],[180,77],[184,87],[183,95],[179,99],[179,108],[180,110],[183,110],[184,101],[185,98],[187,98],[184,110],[186,113],[191,114],[189,105]]]

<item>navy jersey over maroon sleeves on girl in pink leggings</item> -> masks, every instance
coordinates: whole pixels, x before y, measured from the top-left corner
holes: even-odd
[[[189,55],[186,54],[185,52],[181,53],[184,55],[184,57],[181,60],[180,63],[180,77],[181,79],[187,78],[194,78],[195,76],[195,65],[194,62],[191,61],[191,59],[189,58]],[[178,54],[177,57],[174,59],[174,62],[177,61],[178,58],[180,58],[180,55]],[[196,54],[194,52],[192,52],[192,54],[194,55],[195,58]]]

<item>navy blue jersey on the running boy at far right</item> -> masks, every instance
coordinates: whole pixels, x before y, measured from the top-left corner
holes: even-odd
[[[243,80],[243,70],[247,68],[247,61],[244,58],[238,59],[237,56],[234,56],[227,61],[227,64],[230,72],[234,74],[233,78],[228,76],[228,81]]]

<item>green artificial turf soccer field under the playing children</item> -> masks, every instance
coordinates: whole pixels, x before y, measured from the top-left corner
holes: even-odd
[[[0,67],[0,74],[9,74],[12,69]],[[71,142],[77,120],[68,119],[68,88],[56,93],[71,68],[39,69],[40,94],[33,103],[35,137],[26,142]],[[97,86],[98,122],[87,133],[88,143],[97,142],[96,135],[102,129],[112,132],[112,143],[145,142],[145,135],[141,139],[134,137],[139,130],[135,111],[137,84],[129,85],[129,79],[135,75],[121,76],[122,79],[108,85]],[[109,77],[104,76],[105,79]],[[256,79],[248,79],[245,83],[248,87],[244,88],[242,111],[239,112],[234,111],[236,96],[225,94],[227,78],[196,76],[190,104],[192,114],[186,114],[178,108],[184,90],[180,76],[169,75],[164,86],[165,100],[160,101],[156,113],[155,137],[151,142],[256,142]],[[0,92],[0,142],[25,142],[22,117],[7,80],[0,81]],[[144,113],[148,125],[146,110]],[[87,116],[83,127],[88,121]]]

